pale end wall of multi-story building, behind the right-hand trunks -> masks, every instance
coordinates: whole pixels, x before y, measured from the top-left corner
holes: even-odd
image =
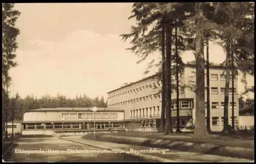
[[[185,84],[187,84],[188,86],[193,86],[193,84],[195,85],[195,83],[193,83],[192,81],[196,82],[196,77],[195,77],[195,71],[196,68],[195,67],[186,67],[185,68]],[[211,124],[211,130],[212,131],[221,131],[223,129],[223,116],[224,116],[224,109],[223,107],[221,107],[221,102],[224,103],[224,94],[221,93],[221,88],[225,88],[225,80],[221,80],[220,76],[223,73],[224,69],[220,69],[220,68],[210,68],[209,72],[210,72],[210,83],[209,83],[209,87],[210,87],[210,124]],[[205,70],[205,74],[206,74],[206,70]],[[211,74],[217,74],[218,75],[218,80],[213,80],[213,78],[211,78]],[[230,75],[231,78],[231,75]],[[234,108],[234,117],[238,117],[239,116],[239,97],[238,97],[238,83],[237,83],[237,77],[235,78],[236,80],[234,80],[234,88],[235,88],[235,94],[234,94],[234,101],[236,102],[236,107]],[[207,86],[206,83],[206,77],[205,77],[205,87]],[[218,94],[214,94],[211,90],[212,87],[217,87],[218,88]],[[230,84],[229,84],[229,88],[232,88],[232,82],[230,79]],[[185,91],[185,97],[187,98],[194,98],[196,100],[196,94],[194,91],[191,91],[191,89],[186,88]],[[207,91],[205,89],[205,102],[207,101]],[[211,102],[219,102],[219,107],[216,109],[211,108],[212,103]],[[228,105],[228,117],[230,118],[232,116],[232,106],[230,105],[230,102],[232,102],[232,94],[229,92],[229,105]],[[196,110],[193,110],[193,121],[196,121]],[[206,117],[206,108],[205,108],[205,117]],[[212,125],[212,117],[218,117],[219,121],[218,121],[218,125]],[[229,124],[231,124],[231,121],[229,121]]]

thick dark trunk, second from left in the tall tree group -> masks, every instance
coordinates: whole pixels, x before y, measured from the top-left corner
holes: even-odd
[[[167,26],[167,31],[166,31],[166,67],[165,67],[165,80],[166,80],[166,94],[165,94],[165,113],[166,113],[166,128],[164,131],[164,134],[170,134],[173,133],[173,127],[172,127],[172,113],[170,111],[170,103],[172,102],[172,97],[171,97],[171,81],[172,81],[172,26],[168,25]]]

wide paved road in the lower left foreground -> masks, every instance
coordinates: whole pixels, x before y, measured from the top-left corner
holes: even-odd
[[[101,148],[60,140],[58,138],[20,138],[16,141],[11,151],[7,153],[4,160],[16,162],[147,161],[129,154],[113,154],[105,153],[105,151]]]

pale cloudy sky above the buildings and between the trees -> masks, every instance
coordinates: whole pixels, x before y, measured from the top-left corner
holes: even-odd
[[[152,54],[140,64],[136,54],[125,48],[120,34],[129,33],[135,20],[131,16],[132,3],[51,3],[15,4],[21,12],[16,21],[17,67],[11,69],[11,86],[21,97],[27,95],[74,98],[103,95],[156,72],[144,75],[147,63],[156,61],[160,53]],[[222,63],[223,49],[209,44],[210,62]],[[184,52],[184,62],[195,60],[192,52]],[[241,76],[239,77],[241,78]],[[248,77],[248,86],[254,78]],[[244,86],[239,83],[239,92]],[[253,95],[251,95],[253,96]],[[250,97],[251,97],[250,96]]]

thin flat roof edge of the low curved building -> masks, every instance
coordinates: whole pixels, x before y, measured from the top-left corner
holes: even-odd
[[[56,107],[56,108],[38,108],[26,112],[93,112],[93,107]],[[97,107],[97,112],[123,112],[116,107]],[[26,113],[25,112],[25,113]]]

